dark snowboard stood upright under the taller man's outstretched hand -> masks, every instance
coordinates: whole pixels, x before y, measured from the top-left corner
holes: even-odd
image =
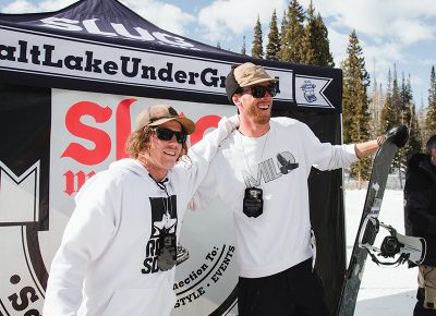
[[[380,212],[390,166],[397,150],[405,145],[408,137],[408,129],[405,126],[393,127],[386,134],[385,142],[375,154],[358,235],[342,283],[341,296],[337,309],[338,316],[352,316],[354,314],[365,262],[368,255],[366,248],[361,247],[361,245],[373,245],[378,232],[377,228],[367,224],[367,221],[371,218],[377,218]]]

